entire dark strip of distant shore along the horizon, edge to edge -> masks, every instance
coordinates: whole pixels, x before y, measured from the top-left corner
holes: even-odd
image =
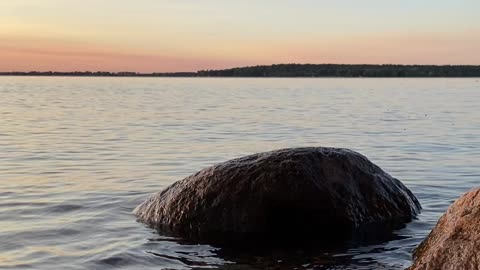
[[[477,78],[480,65],[338,65],[279,64],[197,72],[30,71],[0,72],[0,76],[56,77],[232,77],[232,78]]]

